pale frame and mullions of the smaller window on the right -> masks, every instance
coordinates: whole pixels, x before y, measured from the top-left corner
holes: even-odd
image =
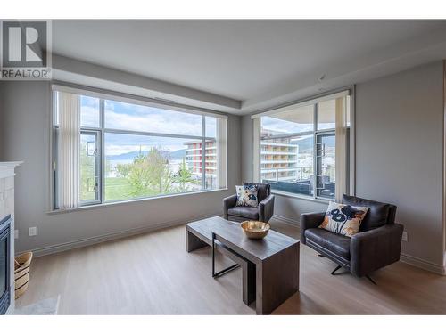
[[[293,193],[290,191],[279,191],[279,190],[274,190],[271,189],[271,192],[279,194],[279,195],[284,195],[284,196],[289,196],[289,197],[295,197],[295,198],[300,198],[303,200],[314,200],[314,201],[329,201],[329,200],[335,200],[335,196],[333,198],[328,198],[326,196],[319,196],[318,195],[318,155],[317,155],[317,142],[318,142],[318,137],[321,137],[323,135],[332,135],[335,134],[335,127],[334,128],[323,128],[323,129],[318,129],[318,105],[320,102],[324,102],[327,100],[331,100],[331,99],[335,99],[337,97],[339,97],[339,94],[343,94],[345,92],[345,96],[350,96],[350,103],[349,103],[349,107],[350,107],[350,125],[347,126],[347,147],[346,147],[346,156],[347,156],[347,177],[346,177],[346,181],[347,181],[347,185],[346,185],[346,192],[354,195],[355,194],[355,171],[356,171],[356,167],[355,167],[355,86],[348,86],[348,87],[343,87],[343,88],[339,88],[330,92],[326,92],[325,94],[318,94],[316,96],[311,96],[309,98],[305,98],[305,99],[301,99],[298,101],[294,101],[294,102],[288,102],[285,103],[284,105],[280,105],[274,108],[270,108],[268,110],[263,110],[260,113],[257,113],[255,115],[252,116],[252,119],[256,119],[259,118],[259,125],[258,126],[254,126],[254,145],[257,145],[258,147],[255,148],[254,150],[254,155],[256,154],[256,150],[259,154],[259,157],[255,157],[253,159],[254,162],[254,182],[261,182],[261,142],[263,140],[268,140],[268,139],[274,139],[274,138],[292,138],[295,136],[303,136],[303,135],[313,135],[313,177],[314,177],[314,190],[313,190],[313,194],[312,195],[305,195],[305,194],[301,194],[301,193]],[[268,136],[268,137],[262,137],[261,136],[261,118],[262,117],[266,117],[266,116],[272,116],[275,113],[279,113],[281,112],[280,109],[285,108],[285,107],[300,107],[300,106],[304,106],[304,105],[308,105],[308,104],[313,104],[313,130],[312,131],[304,131],[304,132],[297,132],[297,133],[293,133],[293,134],[280,134],[280,135],[275,135],[275,136]],[[275,112],[275,110],[277,110],[277,112]],[[257,127],[257,131],[258,133],[256,134],[256,127]],[[259,140],[256,143],[256,138],[259,138]],[[256,158],[257,161],[259,163],[259,166],[255,166],[256,164]]]

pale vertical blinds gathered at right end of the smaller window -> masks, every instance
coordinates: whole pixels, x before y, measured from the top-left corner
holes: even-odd
[[[336,99],[335,111],[335,200],[341,201],[347,191],[347,97]]]

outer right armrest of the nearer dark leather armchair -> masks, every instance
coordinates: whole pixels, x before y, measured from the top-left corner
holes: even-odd
[[[400,260],[401,224],[385,224],[351,237],[351,273],[361,277]]]

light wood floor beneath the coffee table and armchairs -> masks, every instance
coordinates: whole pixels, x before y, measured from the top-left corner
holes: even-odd
[[[298,238],[297,229],[272,222]],[[219,265],[228,265],[219,258]],[[446,314],[446,277],[397,263],[378,285],[301,245],[301,290],[273,314]],[[255,314],[242,302],[240,269],[214,280],[211,251],[185,250],[185,226],[37,257],[17,306],[60,295],[59,314]]]

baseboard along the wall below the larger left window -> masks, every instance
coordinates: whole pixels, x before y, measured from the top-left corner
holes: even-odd
[[[221,213],[219,212],[214,215],[197,216],[194,219],[186,219],[186,220],[178,219],[178,220],[171,221],[171,222],[164,222],[164,223],[153,224],[153,225],[149,225],[149,226],[140,226],[140,227],[131,228],[131,229],[128,229],[125,231],[111,232],[111,233],[107,233],[107,234],[103,234],[103,235],[98,235],[95,237],[90,237],[90,238],[81,239],[81,240],[74,240],[74,241],[69,241],[69,242],[63,242],[63,243],[52,245],[52,246],[46,246],[46,247],[42,247],[42,248],[34,248],[34,249],[26,250],[26,251],[33,252],[34,257],[43,257],[45,255],[60,253],[60,252],[66,251],[66,250],[74,249],[74,248],[82,248],[82,247],[94,245],[96,243],[101,243],[104,241],[118,240],[121,238],[126,238],[126,237],[129,237],[132,235],[136,235],[136,234],[142,234],[142,233],[146,233],[146,232],[154,232],[154,231],[161,230],[164,228],[186,224],[186,223],[192,222],[194,220],[209,218],[211,216],[221,216]],[[24,253],[24,252],[25,251],[22,251],[21,253]]]

